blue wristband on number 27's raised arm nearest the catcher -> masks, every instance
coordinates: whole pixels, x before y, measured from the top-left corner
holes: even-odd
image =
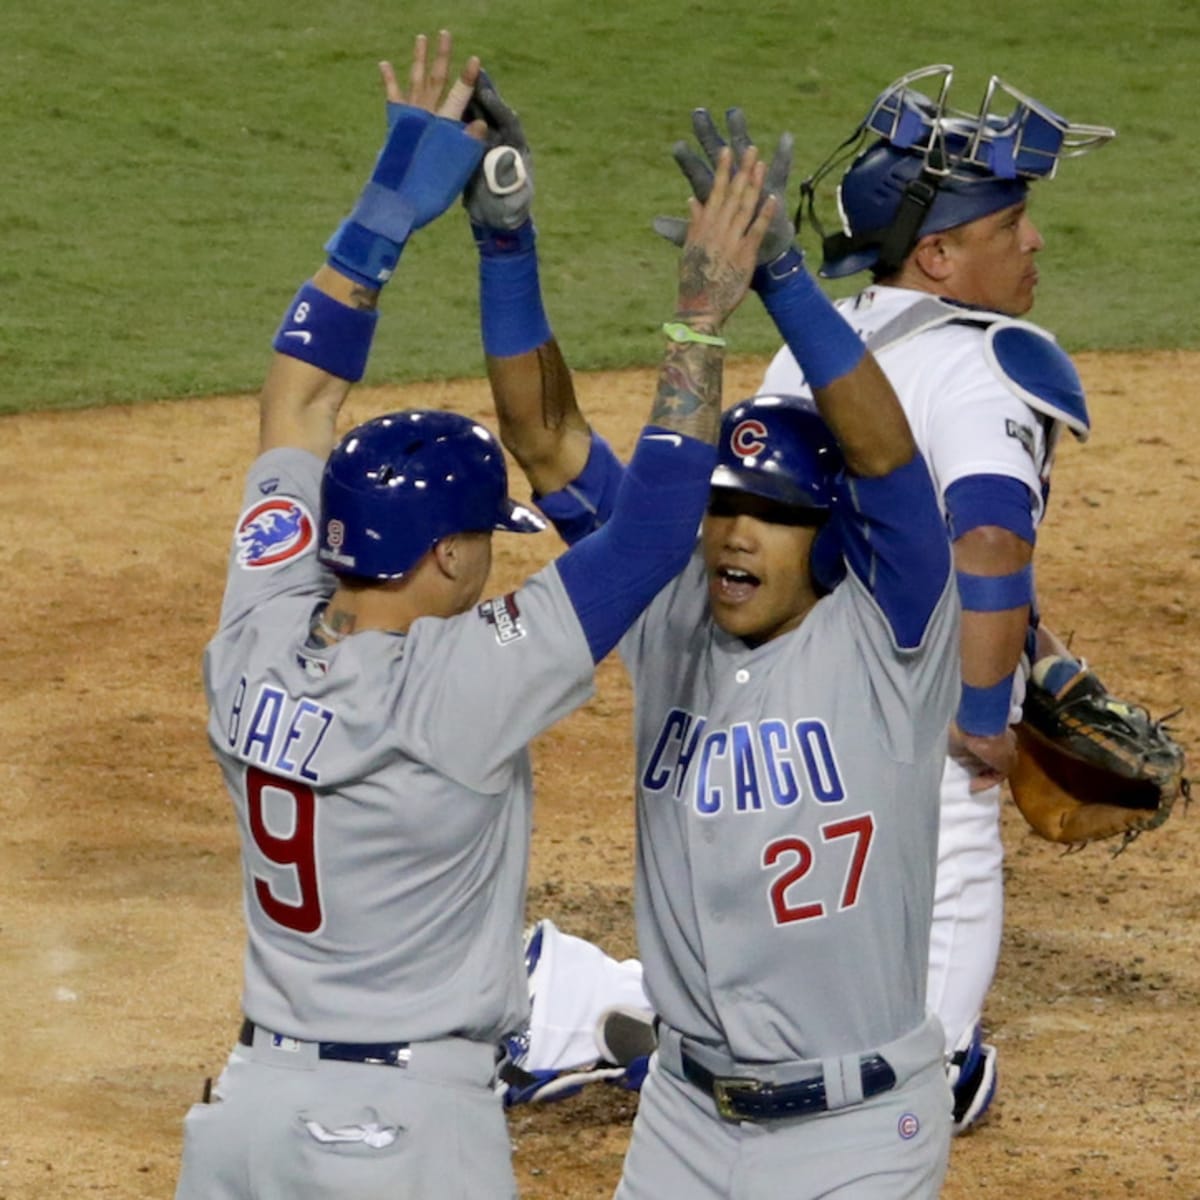
[[[760,266],[751,286],[811,386],[840,379],[866,354],[859,336],[804,269],[804,256],[794,246]]]

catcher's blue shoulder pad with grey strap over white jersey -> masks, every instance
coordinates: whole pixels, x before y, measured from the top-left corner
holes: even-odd
[[[866,348],[878,354],[943,325],[979,329],[984,358],[1004,386],[1036,413],[1062,421],[1080,442],[1087,440],[1091,419],[1075,364],[1046,330],[1027,320],[923,296],[869,334]]]

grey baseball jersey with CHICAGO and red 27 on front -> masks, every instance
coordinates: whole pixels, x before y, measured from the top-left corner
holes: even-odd
[[[956,617],[948,577],[902,649],[851,571],[749,648],[709,618],[697,554],[626,635],[638,942],[667,1025],[752,1063],[866,1051],[925,1020]]]

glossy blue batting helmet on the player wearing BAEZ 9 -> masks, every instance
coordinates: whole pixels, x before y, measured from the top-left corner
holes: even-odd
[[[457,413],[408,410],[350,430],[325,463],[317,557],[337,575],[395,580],[452,533],[536,533],[508,496],[499,443]]]

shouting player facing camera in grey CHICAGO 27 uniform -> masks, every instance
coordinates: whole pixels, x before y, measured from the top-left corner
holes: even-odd
[[[738,113],[731,134],[749,143]],[[772,190],[790,157],[785,136]],[[702,199],[712,175],[694,185]],[[696,552],[622,642],[659,1014],[622,1200],[931,1196],[949,1150],[925,1007],[958,697],[949,545],[890,386],[776,229],[754,287],[815,408],[767,396],[726,413]],[[492,382],[572,540],[604,523],[623,469],[540,378]]]

